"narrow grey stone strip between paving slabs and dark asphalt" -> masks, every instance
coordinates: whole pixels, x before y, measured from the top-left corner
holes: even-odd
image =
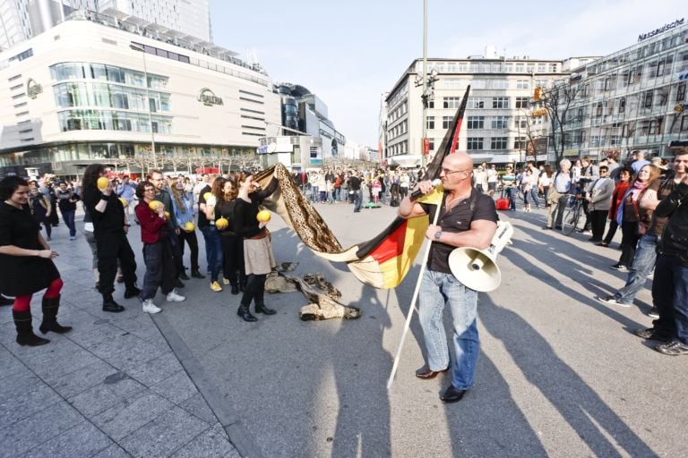
[[[244,423],[239,420],[234,408],[229,405],[218,389],[212,385],[210,379],[203,370],[201,364],[193,356],[193,353],[186,346],[184,341],[174,327],[169,324],[168,318],[164,314],[150,315],[155,326],[158,327],[160,334],[165,337],[169,347],[175,354],[176,359],[185,369],[186,374],[191,378],[193,385],[203,396],[203,399],[215,417],[219,420],[222,428],[225,429],[229,437],[229,442],[235,446],[236,451],[244,458],[263,458],[262,450],[256,444],[254,437],[246,429]]]

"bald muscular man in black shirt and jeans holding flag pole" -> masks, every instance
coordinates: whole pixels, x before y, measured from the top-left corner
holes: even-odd
[[[473,159],[468,154],[450,154],[444,157],[440,172],[443,195],[439,206],[417,202],[412,193],[401,201],[398,210],[402,218],[429,215],[435,222],[426,231],[431,246],[419,290],[418,318],[426,341],[427,364],[416,371],[416,377],[431,379],[451,367],[443,325],[444,305],[449,305],[456,361],[452,385],[440,395],[444,403],[460,401],[473,386],[479,352],[477,292],[452,275],[449,255],[458,247],[486,250],[497,229],[495,201],[473,190],[472,173]],[[415,190],[419,192],[414,193],[426,194],[433,189],[433,182],[419,182]]]

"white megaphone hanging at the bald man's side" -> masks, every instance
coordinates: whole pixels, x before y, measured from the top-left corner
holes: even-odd
[[[449,268],[453,276],[467,288],[480,293],[497,289],[502,281],[502,272],[497,266],[497,255],[507,243],[511,243],[512,234],[511,223],[500,221],[487,250],[470,247],[452,250],[449,255]]]

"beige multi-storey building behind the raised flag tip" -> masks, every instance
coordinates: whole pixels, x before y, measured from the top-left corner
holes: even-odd
[[[426,137],[432,156],[440,146],[452,117],[470,85],[468,106],[461,128],[459,150],[476,162],[509,163],[526,160],[529,138],[546,135],[548,126],[530,131],[530,103],[535,88],[547,88],[568,74],[564,61],[504,58],[490,53],[467,59],[428,59],[433,72],[434,97],[426,114]],[[420,164],[422,139],[423,61],[415,60],[384,100],[383,161],[389,165]],[[530,157],[536,158],[536,157]],[[545,160],[546,154],[537,157]]]

